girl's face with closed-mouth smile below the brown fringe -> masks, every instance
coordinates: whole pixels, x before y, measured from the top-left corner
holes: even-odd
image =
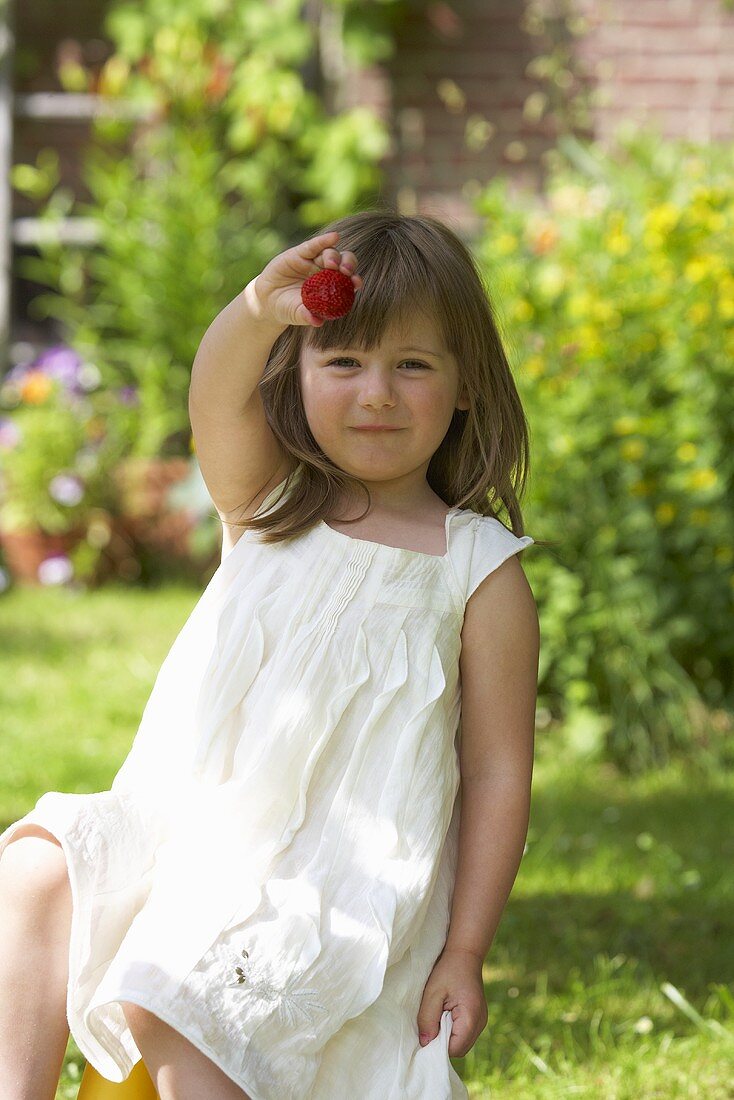
[[[469,407],[458,364],[429,318],[393,327],[370,352],[304,346],[299,374],[309,428],[336,465],[365,482],[376,503],[425,495],[453,411]],[[369,425],[392,430],[363,430]]]

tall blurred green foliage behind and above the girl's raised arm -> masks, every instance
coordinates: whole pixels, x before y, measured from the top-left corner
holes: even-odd
[[[384,55],[397,7],[335,4],[355,61]],[[204,331],[273,255],[376,197],[390,139],[372,109],[331,112],[318,79],[309,89],[317,43],[295,0],[119,3],[106,30],[114,53],[98,90],[125,114],[95,120],[91,200],[59,185],[51,150],[13,172],[48,222],[90,219],[98,246],[48,241],[22,274],[50,288],[35,310],[63,322],[105,384],[138,388],[129,453],[183,454]],[[84,73],[66,81],[84,86]]]

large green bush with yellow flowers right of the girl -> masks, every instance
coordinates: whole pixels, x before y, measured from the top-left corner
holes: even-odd
[[[555,543],[540,714],[635,769],[732,725],[731,147],[569,148],[545,197],[492,183],[478,251],[532,426],[528,530]]]

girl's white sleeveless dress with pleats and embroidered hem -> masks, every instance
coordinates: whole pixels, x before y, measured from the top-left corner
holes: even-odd
[[[417,1032],[458,851],[460,632],[534,540],[457,508],[446,537],[439,557],[325,521],[271,544],[245,530],[111,789],[48,792],[0,835],[0,853],[29,823],[62,844],[68,1024],[108,1080],[141,1057],[125,1000],[252,1100],[468,1097],[451,1012]]]

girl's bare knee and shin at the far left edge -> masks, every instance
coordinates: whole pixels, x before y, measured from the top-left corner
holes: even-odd
[[[54,1100],[66,1019],[72,891],[56,837],[19,828],[0,859],[0,1082],[3,1100]]]

